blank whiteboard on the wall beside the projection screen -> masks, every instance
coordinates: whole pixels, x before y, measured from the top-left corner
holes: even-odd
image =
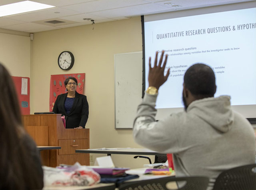
[[[114,54],[115,129],[132,129],[142,101],[142,52]]]

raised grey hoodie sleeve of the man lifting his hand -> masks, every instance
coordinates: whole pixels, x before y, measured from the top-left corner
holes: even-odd
[[[157,152],[176,152],[179,136],[175,124],[176,116],[171,115],[156,122],[156,98],[157,95],[145,93],[142,103],[138,106],[133,128],[134,140]]]

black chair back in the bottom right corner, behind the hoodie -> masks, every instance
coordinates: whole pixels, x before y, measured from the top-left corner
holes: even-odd
[[[216,178],[214,190],[256,190],[256,164],[226,170]]]

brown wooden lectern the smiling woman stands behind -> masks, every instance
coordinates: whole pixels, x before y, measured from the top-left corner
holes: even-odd
[[[22,116],[23,125],[37,146],[60,146],[59,150],[41,151],[42,164],[56,167],[59,164],[90,165],[89,154],[76,153],[76,149],[90,148],[89,129],[64,128],[61,114]]]

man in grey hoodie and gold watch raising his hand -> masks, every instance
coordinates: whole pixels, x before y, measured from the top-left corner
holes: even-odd
[[[205,64],[194,64],[184,74],[185,111],[156,122],[158,89],[164,76],[164,51],[154,66],[149,60],[149,87],[134,120],[134,140],[151,150],[173,153],[176,176],[208,176],[255,162],[255,136],[250,123],[230,108],[230,96],[214,98],[215,76]]]

